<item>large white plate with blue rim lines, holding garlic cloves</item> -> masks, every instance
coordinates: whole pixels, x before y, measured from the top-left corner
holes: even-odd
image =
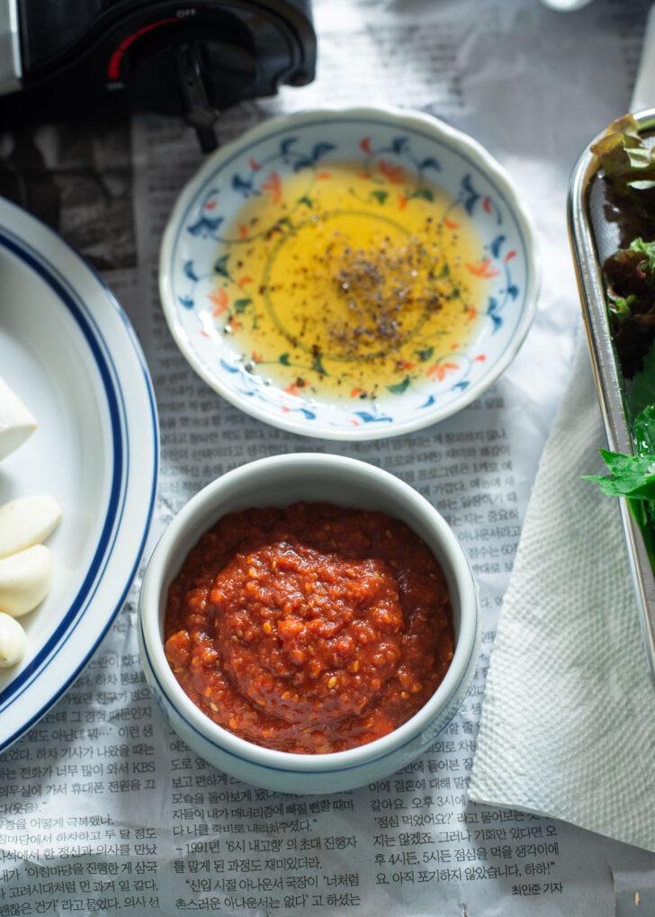
[[[0,503],[49,493],[50,591],[20,619],[25,657],[0,669],[0,749],[50,710],[128,594],[150,526],[157,410],[139,342],[85,260],[0,199],[0,375],[37,421],[0,462]]]

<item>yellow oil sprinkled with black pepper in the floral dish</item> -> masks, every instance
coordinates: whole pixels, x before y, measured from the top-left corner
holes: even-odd
[[[222,332],[251,371],[304,397],[375,397],[439,378],[470,343],[483,246],[438,186],[411,189],[341,163],[250,199],[228,233],[247,296]]]

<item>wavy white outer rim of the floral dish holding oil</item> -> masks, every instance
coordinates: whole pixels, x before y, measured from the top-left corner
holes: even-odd
[[[453,151],[460,151],[472,162],[474,167],[482,171],[489,181],[494,183],[505,200],[508,212],[511,213],[516,221],[519,235],[524,243],[526,289],[523,295],[522,312],[511,341],[497,359],[494,360],[493,369],[489,370],[482,379],[472,382],[466,390],[460,392],[456,403],[446,404],[440,411],[434,411],[431,414],[417,413],[401,422],[394,422],[393,425],[388,426],[362,424],[359,426],[343,425],[327,428],[324,423],[320,426],[304,424],[302,421],[297,420],[294,414],[278,415],[276,412],[267,410],[266,406],[259,405],[255,400],[242,397],[239,392],[232,391],[220,377],[217,377],[209,367],[205,366],[203,360],[196,358],[195,348],[183,328],[173,295],[173,253],[176,249],[183,215],[189,205],[193,203],[198,189],[205,185],[212,175],[222,169],[229,160],[239,156],[241,149],[250,148],[265,138],[274,137],[294,127],[310,126],[318,119],[321,121],[348,120],[361,122],[367,118],[387,118],[392,125],[405,126],[407,129],[414,129],[424,134],[432,135],[438,142],[447,143]],[[488,149],[483,147],[479,140],[458,127],[452,127],[439,117],[418,109],[404,108],[398,105],[321,105],[265,118],[246,129],[238,137],[228,140],[208,156],[188,182],[185,183],[172,206],[172,211],[161,236],[158,285],[161,307],[175,343],[196,374],[221,398],[238,408],[239,411],[296,436],[356,442],[359,440],[401,436],[425,429],[427,426],[439,423],[452,414],[459,413],[476,398],[480,397],[483,392],[486,392],[516,358],[518,350],[523,346],[527,337],[527,332],[537,312],[541,287],[541,264],[538,255],[537,233],[532,217],[519,198],[516,185],[509,172],[495,159]]]

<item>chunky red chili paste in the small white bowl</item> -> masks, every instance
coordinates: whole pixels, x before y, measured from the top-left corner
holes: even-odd
[[[405,723],[453,654],[446,581],[407,525],[328,503],[230,514],[169,591],[165,650],[217,724],[298,753]]]

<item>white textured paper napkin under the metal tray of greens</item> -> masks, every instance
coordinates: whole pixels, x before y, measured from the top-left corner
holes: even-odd
[[[550,432],[498,624],[470,799],[655,851],[655,691],[588,350]]]

